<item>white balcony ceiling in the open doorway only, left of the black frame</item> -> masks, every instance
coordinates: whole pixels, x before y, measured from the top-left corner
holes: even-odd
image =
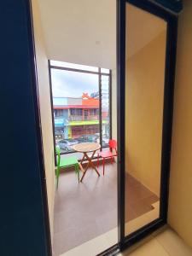
[[[38,0],[49,59],[116,65],[116,0]]]

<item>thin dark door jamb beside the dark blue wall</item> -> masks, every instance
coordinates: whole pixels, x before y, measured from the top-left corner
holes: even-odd
[[[33,104],[34,104],[34,115],[36,122],[37,131],[37,143],[38,143],[38,162],[39,162],[39,179],[41,183],[42,196],[43,196],[43,212],[44,212],[44,236],[45,236],[45,247],[46,256],[52,256],[52,245],[51,245],[51,235],[50,235],[50,225],[49,225],[49,206],[48,206],[48,195],[47,195],[47,184],[44,166],[44,146],[43,146],[43,135],[42,135],[42,125],[40,117],[40,104],[38,95],[38,72],[37,72],[37,61],[36,61],[36,50],[35,50],[35,38],[34,38],[34,27],[32,20],[32,0],[24,1],[26,7],[26,26],[27,26],[27,36],[29,44],[29,55],[31,58],[32,67],[32,94],[33,94]],[[23,21],[25,22],[25,20]]]

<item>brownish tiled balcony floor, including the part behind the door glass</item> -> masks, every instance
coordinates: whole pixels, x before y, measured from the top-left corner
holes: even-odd
[[[99,167],[102,174],[102,166]],[[130,221],[152,210],[156,195],[127,175],[125,220]],[[105,176],[97,177],[92,169],[83,183],[74,172],[61,174],[55,194],[54,255],[58,256],[85,241],[117,226],[117,168],[106,166]]]

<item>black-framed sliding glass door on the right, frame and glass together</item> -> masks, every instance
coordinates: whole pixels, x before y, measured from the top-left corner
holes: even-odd
[[[119,1],[119,245],[166,223],[177,19]]]

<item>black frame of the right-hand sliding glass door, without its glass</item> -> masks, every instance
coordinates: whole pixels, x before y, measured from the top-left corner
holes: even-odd
[[[125,236],[125,6],[131,3],[137,8],[166,20],[166,65],[165,89],[161,148],[160,176],[160,218],[143,226],[139,230]],[[177,49],[177,15],[160,8],[148,0],[117,1],[117,80],[118,80],[118,237],[120,250],[130,247],[133,243],[148,236],[160,226],[166,224],[168,209],[169,172],[172,146],[172,112]]]

